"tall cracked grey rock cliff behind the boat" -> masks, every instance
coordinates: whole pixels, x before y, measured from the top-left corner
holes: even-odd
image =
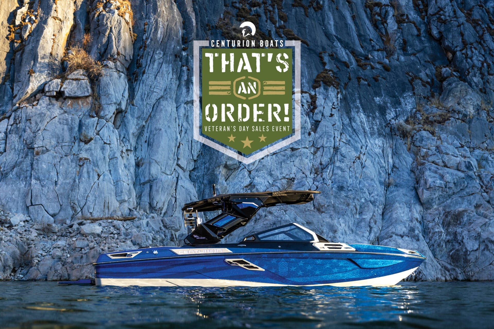
[[[492,280],[493,15],[493,0],[3,0],[1,277],[78,279],[102,251],[179,244],[181,205],[216,183],[322,192],[229,241],[297,221],[418,250],[415,279]],[[243,20],[302,42],[302,138],[248,165],[192,132],[191,42]]]

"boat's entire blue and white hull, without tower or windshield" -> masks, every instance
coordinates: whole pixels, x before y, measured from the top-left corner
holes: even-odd
[[[393,286],[425,259],[389,251],[235,251],[97,262],[95,282],[113,286]],[[234,263],[238,260],[247,266]]]

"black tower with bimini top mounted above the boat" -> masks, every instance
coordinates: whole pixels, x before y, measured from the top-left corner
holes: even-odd
[[[212,198],[186,203],[187,212],[220,210],[221,214],[197,225],[185,238],[188,245],[214,244],[237,228],[244,226],[263,207],[304,204],[314,200],[319,191],[267,191],[254,193],[220,194]]]

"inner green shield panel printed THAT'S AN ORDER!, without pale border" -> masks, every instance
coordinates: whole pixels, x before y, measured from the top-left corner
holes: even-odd
[[[202,49],[202,133],[250,154],[292,133],[292,49]]]

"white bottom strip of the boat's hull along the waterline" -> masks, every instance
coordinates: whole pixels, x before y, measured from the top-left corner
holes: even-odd
[[[97,286],[140,286],[140,287],[286,287],[286,286],[334,286],[334,287],[387,287],[394,286],[401,280],[408,277],[418,268],[412,268],[407,271],[385,275],[378,278],[347,281],[338,283],[323,283],[318,285],[282,285],[278,283],[264,283],[240,280],[223,280],[223,279],[118,279],[118,278],[96,278]]]

